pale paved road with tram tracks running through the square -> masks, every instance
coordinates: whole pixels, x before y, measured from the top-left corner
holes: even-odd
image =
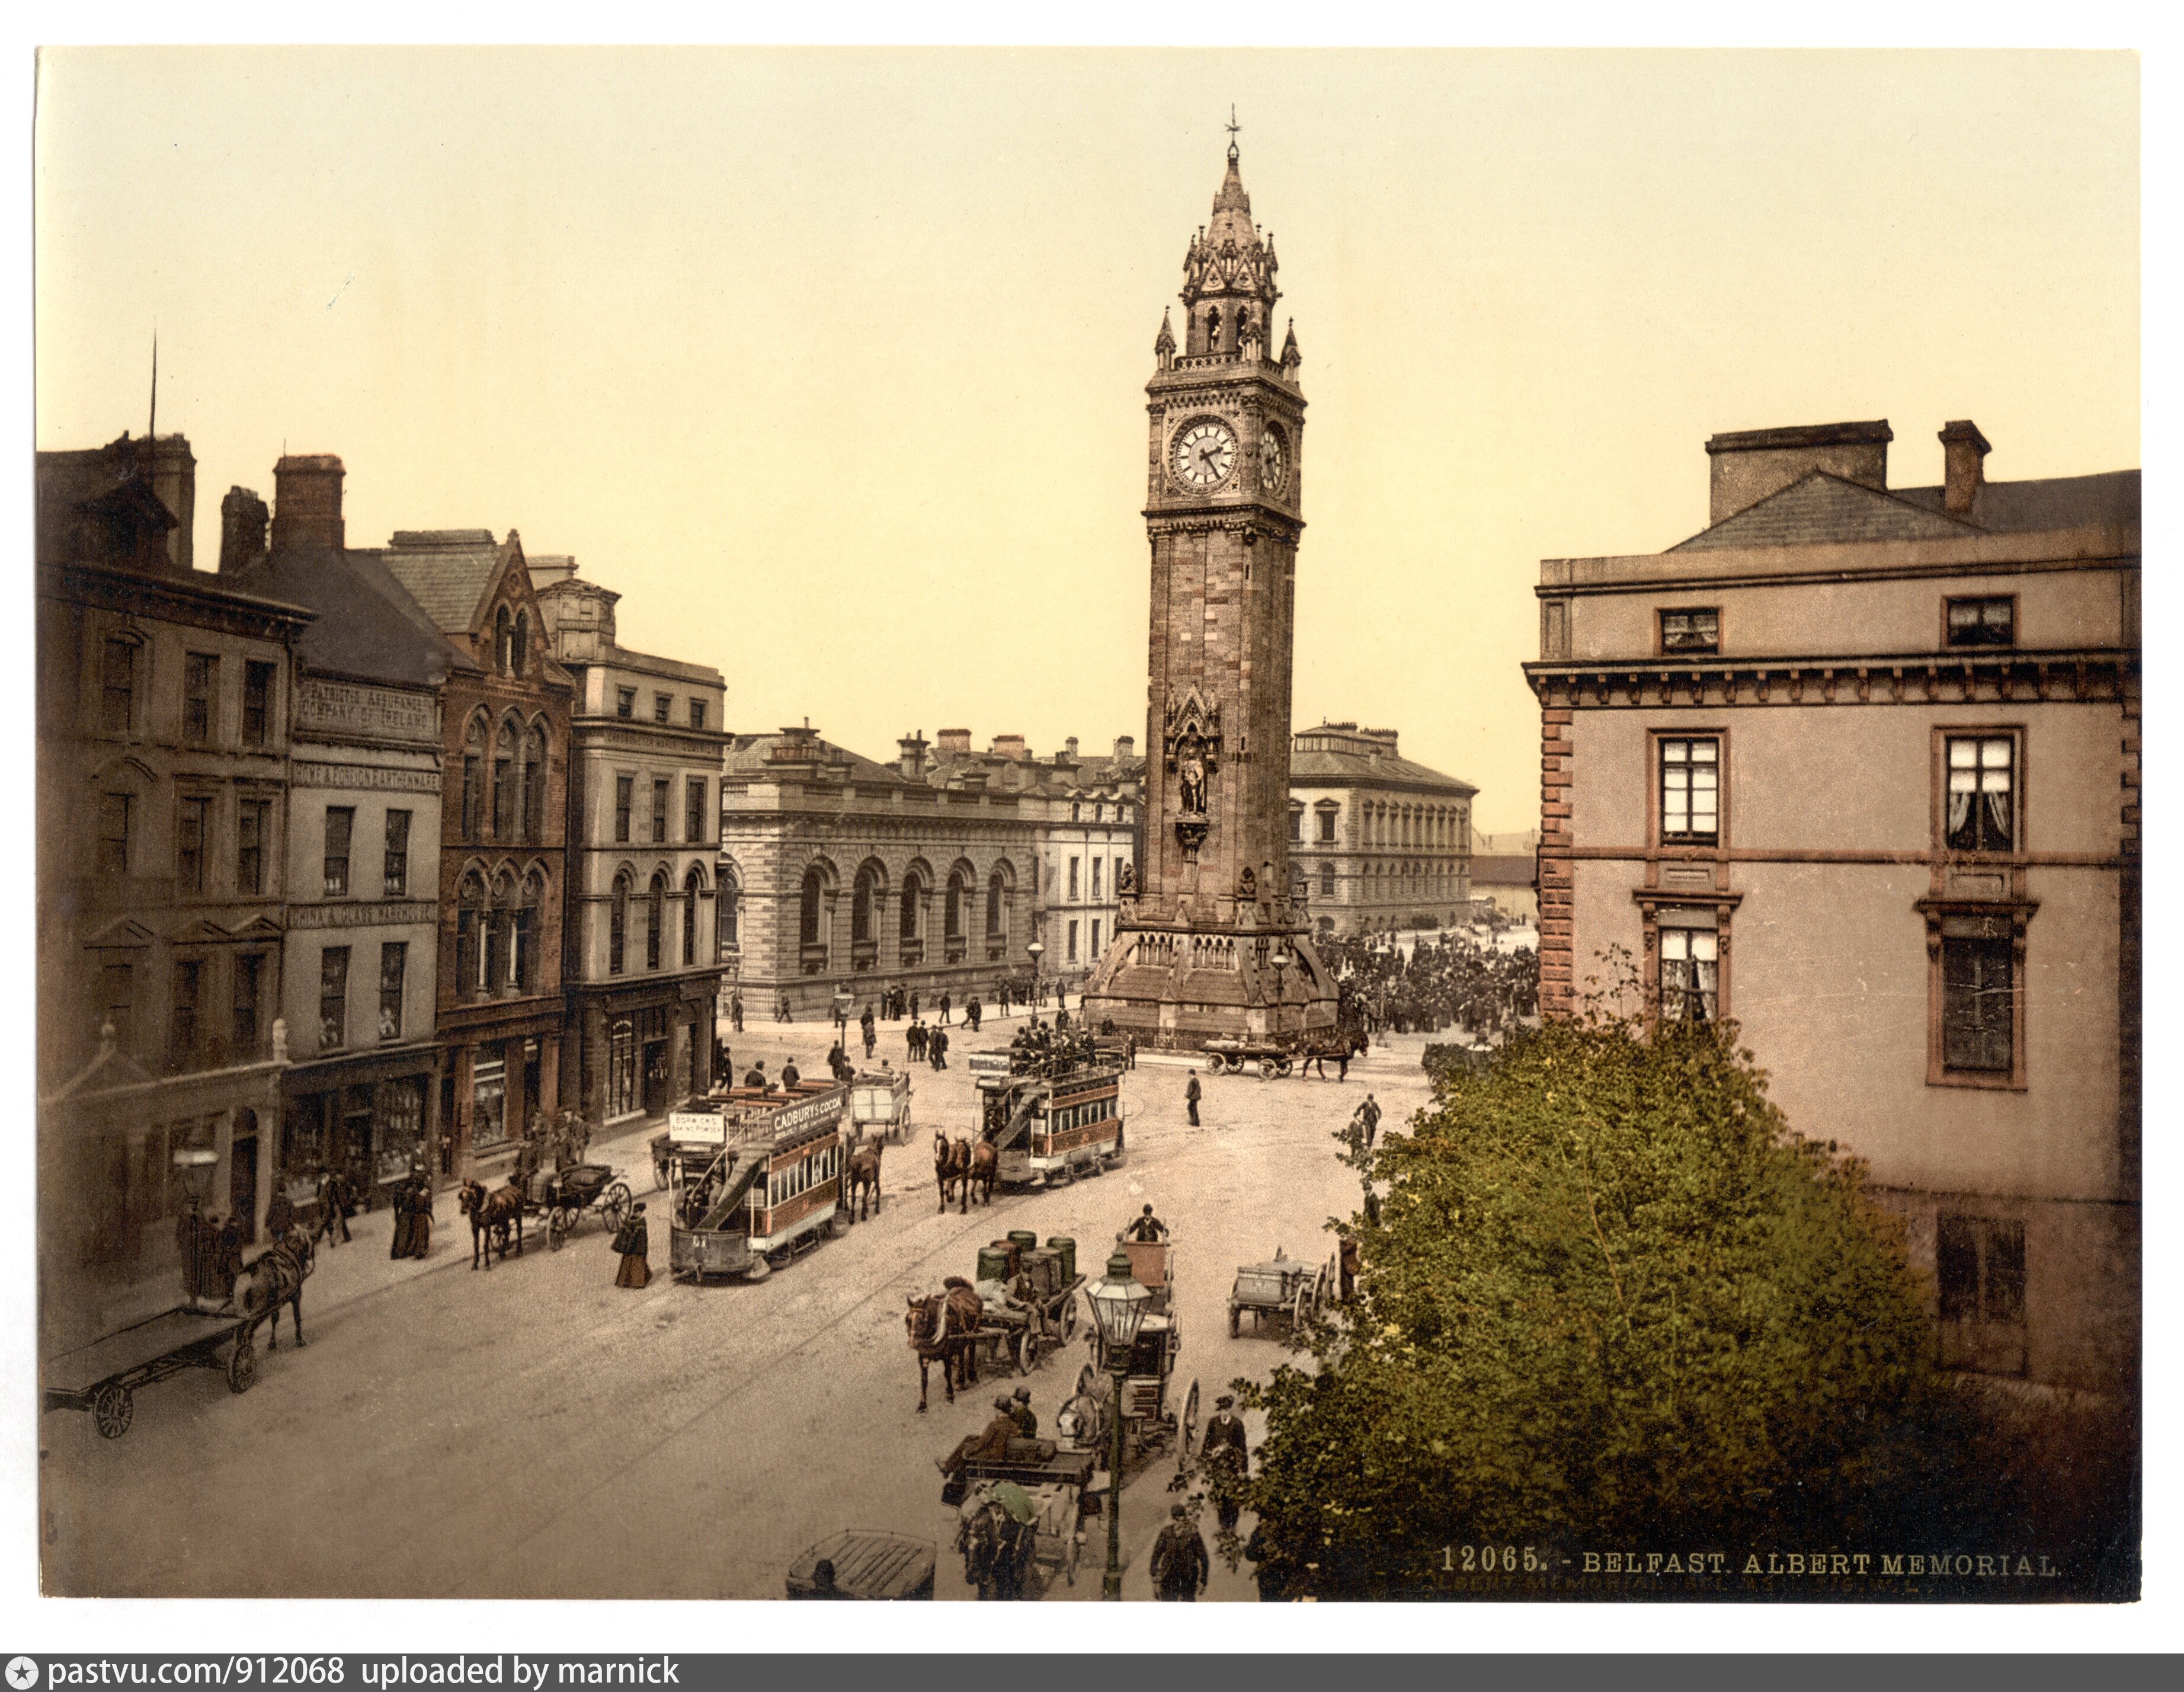
[[[1389,1127],[1426,1092],[1424,1041],[1396,1039],[1341,1087],[1208,1079],[1192,1131],[1184,1072],[1147,1063],[1125,1076],[1125,1168],[941,1216],[928,1135],[968,1124],[961,1057],[974,1044],[987,1041],[963,1039],[946,1074],[917,1072],[919,1142],[887,1159],[882,1214],[762,1284],[655,1273],[642,1292],[618,1290],[596,1223],[559,1253],[537,1242],[472,1273],[441,1203],[426,1273],[319,1314],[306,1295],[308,1349],[284,1338],[249,1395],[212,1373],[151,1386],[120,1441],[100,1441],[90,1417],[46,1417],[48,1592],[767,1598],[802,1548],[843,1526],[946,1552],[952,1513],[933,1458],[1016,1380],[987,1378],[950,1406],[935,1373],[933,1410],[917,1415],[909,1292],[968,1273],[1009,1229],[1070,1234],[1079,1271],[1096,1273],[1114,1229],[1151,1201],[1177,1236],[1177,1391],[1199,1380],[1210,1410],[1230,1378],[1284,1356],[1249,1332],[1227,1338],[1234,1266],[1275,1244],[1324,1255],[1321,1225],[1356,1205],[1330,1133],[1367,1087]],[[618,1161],[642,1194],[640,1146],[625,1142]],[[660,1218],[655,1271],[664,1236]],[[354,1275],[358,1260],[343,1264]],[[1079,1341],[1031,1375],[1042,1428],[1085,1354]],[[1162,1478],[1125,1493],[1131,1596],[1147,1594],[1144,1552],[1166,1520]],[[1051,1596],[1099,1596],[1105,1528],[1092,1528],[1079,1585]],[[1210,1513],[1206,1528],[1210,1541]],[[1249,1598],[1247,1572],[1216,1565],[1208,1596]],[[948,1554],[939,1596],[968,1596]]]

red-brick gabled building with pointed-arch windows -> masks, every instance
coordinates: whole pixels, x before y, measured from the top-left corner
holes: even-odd
[[[546,648],[513,528],[502,541],[489,528],[395,531],[378,559],[454,648],[435,889],[439,1170],[491,1172],[559,1107],[574,683]]]

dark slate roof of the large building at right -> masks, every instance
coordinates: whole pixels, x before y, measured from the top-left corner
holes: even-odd
[[[1843,541],[1946,541],[1970,535],[2038,533],[2138,522],[2138,472],[2055,476],[1981,485],[1968,517],[1944,511],[1939,487],[1889,491],[1815,469],[1765,500],[1723,517],[1671,552]]]

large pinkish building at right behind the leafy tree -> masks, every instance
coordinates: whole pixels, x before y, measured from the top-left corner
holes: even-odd
[[[1612,945],[1863,1157],[1946,1362],[2138,1360],[2138,472],[1891,487],[1891,430],[1708,441],[1710,524],[1548,559],[1542,1002]]]

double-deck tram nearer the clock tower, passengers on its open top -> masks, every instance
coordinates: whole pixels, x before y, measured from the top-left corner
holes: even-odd
[[[972,1052],[978,1133],[1009,1185],[1053,1185],[1123,1161],[1123,1063],[1085,1039]]]

